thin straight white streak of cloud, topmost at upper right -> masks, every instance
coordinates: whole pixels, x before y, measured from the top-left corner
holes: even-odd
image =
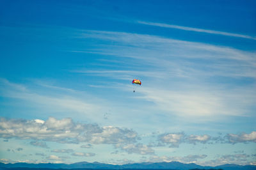
[[[254,36],[249,36],[249,35],[241,35],[241,34],[236,34],[236,33],[227,33],[223,31],[215,31],[211,29],[200,29],[196,27],[184,27],[184,26],[177,26],[177,25],[172,25],[172,24],[164,24],[164,23],[158,23],[158,22],[145,22],[138,20],[138,24],[144,24],[148,26],[158,26],[158,27],[168,27],[168,28],[173,28],[173,29],[181,29],[184,31],[195,31],[199,33],[208,33],[208,34],[214,34],[214,35],[223,35],[223,36],[233,36],[237,38],[246,38],[246,39],[251,39],[251,40],[256,40],[256,37]]]

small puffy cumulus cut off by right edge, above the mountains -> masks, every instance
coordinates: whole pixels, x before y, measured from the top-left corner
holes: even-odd
[[[256,131],[253,131],[250,134],[227,134],[225,137],[228,140],[228,143],[232,144],[248,142],[256,143]]]

